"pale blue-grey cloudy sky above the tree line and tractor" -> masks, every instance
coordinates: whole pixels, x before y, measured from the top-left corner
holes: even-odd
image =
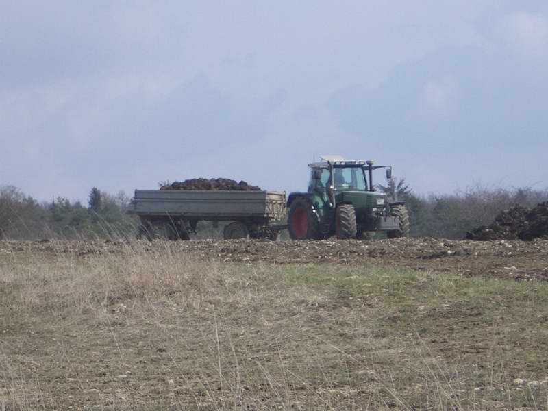
[[[36,199],[305,190],[321,155],[419,194],[548,187],[547,1],[0,4],[0,185]]]

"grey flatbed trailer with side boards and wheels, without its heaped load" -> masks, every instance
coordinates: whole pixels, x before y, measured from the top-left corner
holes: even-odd
[[[198,221],[228,222],[225,240],[270,238],[287,225],[286,193],[278,191],[135,190],[132,214],[140,219],[139,238],[189,240]]]

